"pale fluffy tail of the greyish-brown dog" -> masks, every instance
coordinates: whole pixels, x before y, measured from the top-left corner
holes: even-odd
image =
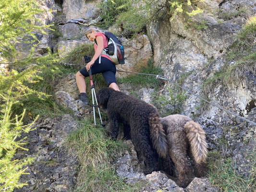
[[[186,137],[189,140],[192,155],[195,158],[195,162],[200,164],[201,162],[206,162],[207,157],[207,143],[206,134],[201,126],[190,120],[184,125],[184,131]]]

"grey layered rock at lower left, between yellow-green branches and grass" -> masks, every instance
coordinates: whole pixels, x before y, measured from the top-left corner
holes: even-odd
[[[67,192],[75,184],[77,160],[65,149],[67,135],[76,130],[78,123],[70,115],[39,119],[37,129],[27,135],[27,152],[19,150],[15,158],[34,157],[32,165],[20,177],[28,185],[14,192]]]

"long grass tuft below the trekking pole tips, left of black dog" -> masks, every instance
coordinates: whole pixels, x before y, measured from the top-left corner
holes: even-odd
[[[121,156],[125,145],[122,141],[110,140],[105,129],[95,127],[93,122],[93,119],[81,121],[81,127],[66,141],[66,147],[80,164],[74,192],[138,191],[138,185],[126,184],[111,166]]]

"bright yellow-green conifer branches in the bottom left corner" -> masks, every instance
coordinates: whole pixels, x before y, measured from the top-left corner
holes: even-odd
[[[2,96],[2,95],[1,95]],[[2,98],[1,98],[2,99]],[[12,119],[11,109],[12,101],[7,98],[6,106],[0,107],[0,191],[12,192],[14,188],[21,188],[27,183],[19,183],[19,177],[26,174],[24,168],[33,162],[33,158],[27,157],[21,160],[14,159],[17,149],[25,149],[26,138],[20,138],[22,133],[30,132],[31,125],[37,118],[30,124],[23,125],[23,118],[25,109],[20,116],[15,116]]]

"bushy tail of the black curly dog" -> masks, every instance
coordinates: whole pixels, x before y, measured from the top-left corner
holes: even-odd
[[[167,155],[168,144],[158,114],[151,113],[148,118],[148,122],[150,126],[150,138],[153,146],[157,150],[159,156],[165,157]]]

